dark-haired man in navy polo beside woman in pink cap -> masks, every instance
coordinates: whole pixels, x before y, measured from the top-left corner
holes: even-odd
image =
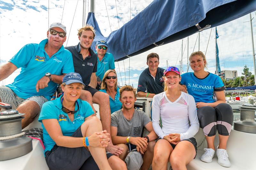
[[[137,95],[153,98],[164,91],[164,69],[158,67],[159,55],[156,53],[150,53],[147,56],[147,65],[148,68],[140,74]]]

